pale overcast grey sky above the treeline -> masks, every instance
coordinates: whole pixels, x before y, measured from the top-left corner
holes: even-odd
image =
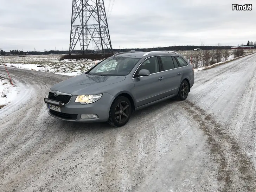
[[[109,0],[104,2],[108,12]],[[232,3],[115,0],[108,19],[112,47],[200,45],[201,41],[205,45],[240,45],[256,41],[256,1],[236,1],[241,5],[252,3],[252,11],[232,11]],[[0,48],[69,50],[71,9],[72,0],[0,0]]]

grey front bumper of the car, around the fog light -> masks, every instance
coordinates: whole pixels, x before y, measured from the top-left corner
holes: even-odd
[[[90,103],[81,104],[75,102],[76,96],[72,96],[70,102],[61,107],[61,113],[49,109],[49,104],[46,103],[48,114],[57,119],[73,122],[104,122],[108,121],[109,109],[115,97],[104,93],[100,100]],[[81,114],[96,114],[95,119],[81,119]]]

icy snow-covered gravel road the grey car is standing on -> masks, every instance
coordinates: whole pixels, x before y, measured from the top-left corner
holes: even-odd
[[[196,72],[186,101],[121,128],[49,117],[43,98],[70,77],[8,69],[26,97],[0,110],[0,191],[256,189],[256,54]]]

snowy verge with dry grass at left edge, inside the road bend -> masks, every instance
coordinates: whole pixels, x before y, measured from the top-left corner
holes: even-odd
[[[15,82],[13,82],[13,85],[8,77],[0,73],[0,109],[14,101],[18,96],[19,87],[17,87]]]

